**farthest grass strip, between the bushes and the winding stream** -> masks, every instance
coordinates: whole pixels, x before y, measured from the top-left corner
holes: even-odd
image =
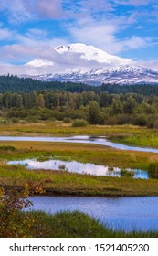
[[[132,125],[88,125],[72,127],[71,123],[7,123],[0,124],[1,135],[19,136],[69,136],[69,135],[103,135],[123,144],[158,147],[158,129]]]

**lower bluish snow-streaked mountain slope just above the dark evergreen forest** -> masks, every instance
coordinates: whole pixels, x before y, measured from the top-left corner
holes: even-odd
[[[158,72],[140,66],[121,65],[114,69],[92,69],[88,72],[71,72],[63,74],[45,74],[34,77],[37,80],[58,80],[61,82],[82,82],[90,85],[102,83],[140,84],[158,83]]]

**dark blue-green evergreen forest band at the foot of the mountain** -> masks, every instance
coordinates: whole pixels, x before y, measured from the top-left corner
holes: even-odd
[[[13,75],[0,76],[0,93],[7,92],[32,92],[32,91],[68,91],[83,92],[94,91],[100,93],[108,91],[109,93],[138,93],[142,95],[158,95],[158,84],[102,84],[92,86],[77,82],[60,82],[60,81],[40,81],[30,78],[18,78]]]

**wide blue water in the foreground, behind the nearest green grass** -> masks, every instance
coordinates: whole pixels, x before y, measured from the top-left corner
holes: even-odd
[[[79,210],[112,229],[158,230],[158,197],[30,197],[33,210]]]

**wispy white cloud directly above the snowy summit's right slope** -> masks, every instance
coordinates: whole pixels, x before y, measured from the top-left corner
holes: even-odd
[[[76,26],[69,26],[72,38],[77,42],[92,44],[111,54],[119,54],[129,49],[143,48],[148,44],[146,37],[128,37],[118,39],[117,33],[121,30],[123,19],[95,21],[91,18],[79,21]]]

